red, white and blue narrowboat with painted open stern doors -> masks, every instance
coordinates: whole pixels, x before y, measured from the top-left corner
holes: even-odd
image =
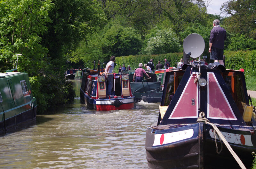
[[[107,95],[107,81],[104,73],[83,74],[80,99],[88,109],[100,111],[135,109],[135,97],[132,95],[128,74],[114,73],[114,95]]]

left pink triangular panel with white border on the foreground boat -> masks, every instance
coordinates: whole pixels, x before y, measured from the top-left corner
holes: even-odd
[[[197,118],[197,83],[194,83],[195,77],[189,78],[179,101],[172,110],[169,119],[179,118]]]

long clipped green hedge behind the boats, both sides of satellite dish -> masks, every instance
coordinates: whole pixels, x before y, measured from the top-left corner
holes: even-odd
[[[209,54],[210,55],[210,54]],[[224,55],[226,55],[226,68],[239,70],[241,68],[244,69],[245,76],[253,76],[256,77],[256,50],[254,51],[224,51]],[[209,56],[208,56],[209,57]],[[119,65],[125,67],[130,65],[132,69],[138,68],[139,63],[143,65],[148,63],[150,59],[153,59],[153,63],[156,67],[158,60],[164,64],[164,59],[167,59],[172,67],[176,67],[175,62],[179,62],[180,58],[183,58],[183,53],[167,53],[167,54],[159,54],[159,55],[136,55],[136,56],[121,56],[116,57],[116,67],[114,70],[118,71]],[[176,61],[177,60],[177,61]],[[212,60],[211,60],[212,61]]]

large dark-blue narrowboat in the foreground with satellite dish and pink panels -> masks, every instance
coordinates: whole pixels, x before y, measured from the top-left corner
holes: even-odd
[[[148,168],[251,168],[255,107],[244,72],[201,64],[198,34],[188,35],[183,48],[184,60],[198,61],[166,71],[158,121],[146,130]]]

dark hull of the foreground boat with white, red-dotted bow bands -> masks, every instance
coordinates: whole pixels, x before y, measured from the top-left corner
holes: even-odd
[[[219,127],[218,127],[219,128]],[[231,127],[233,128],[233,127]],[[246,168],[252,165],[255,135],[250,127],[219,128]],[[154,126],[146,132],[148,168],[239,168],[223,143],[218,154],[212,127],[205,123]],[[217,137],[218,150],[221,145]]]

